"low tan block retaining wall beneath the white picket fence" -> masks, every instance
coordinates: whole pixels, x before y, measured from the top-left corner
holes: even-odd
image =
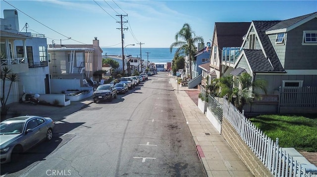
[[[222,119],[221,135],[255,177],[273,177],[225,118]]]

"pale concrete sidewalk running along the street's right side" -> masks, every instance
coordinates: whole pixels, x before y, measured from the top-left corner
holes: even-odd
[[[216,131],[206,115],[185,92],[188,87],[177,87],[170,78],[179,105],[197,147],[197,152],[208,177],[253,177],[245,164],[224,138]]]

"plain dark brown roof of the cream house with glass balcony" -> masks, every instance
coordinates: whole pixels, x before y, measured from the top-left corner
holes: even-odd
[[[251,22],[216,22],[218,48],[240,47],[243,36],[247,34]]]

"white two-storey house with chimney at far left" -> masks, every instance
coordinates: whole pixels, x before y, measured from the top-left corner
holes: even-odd
[[[49,94],[51,87],[45,35],[20,33],[18,11],[15,9],[3,10],[0,24],[1,70],[8,67],[19,77],[19,81],[12,84],[6,104],[18,102],[23,92]],[[1,88],[2,84],[1,81]],[[5,94],[9,85],[10,82],[6,81]]]

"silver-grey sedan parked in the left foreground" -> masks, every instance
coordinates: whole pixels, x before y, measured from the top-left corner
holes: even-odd
[[[52,140],[54,122],[50,117],[19,116],[0,123],[1,164],[15,162],[22,152],[43,140]]]

